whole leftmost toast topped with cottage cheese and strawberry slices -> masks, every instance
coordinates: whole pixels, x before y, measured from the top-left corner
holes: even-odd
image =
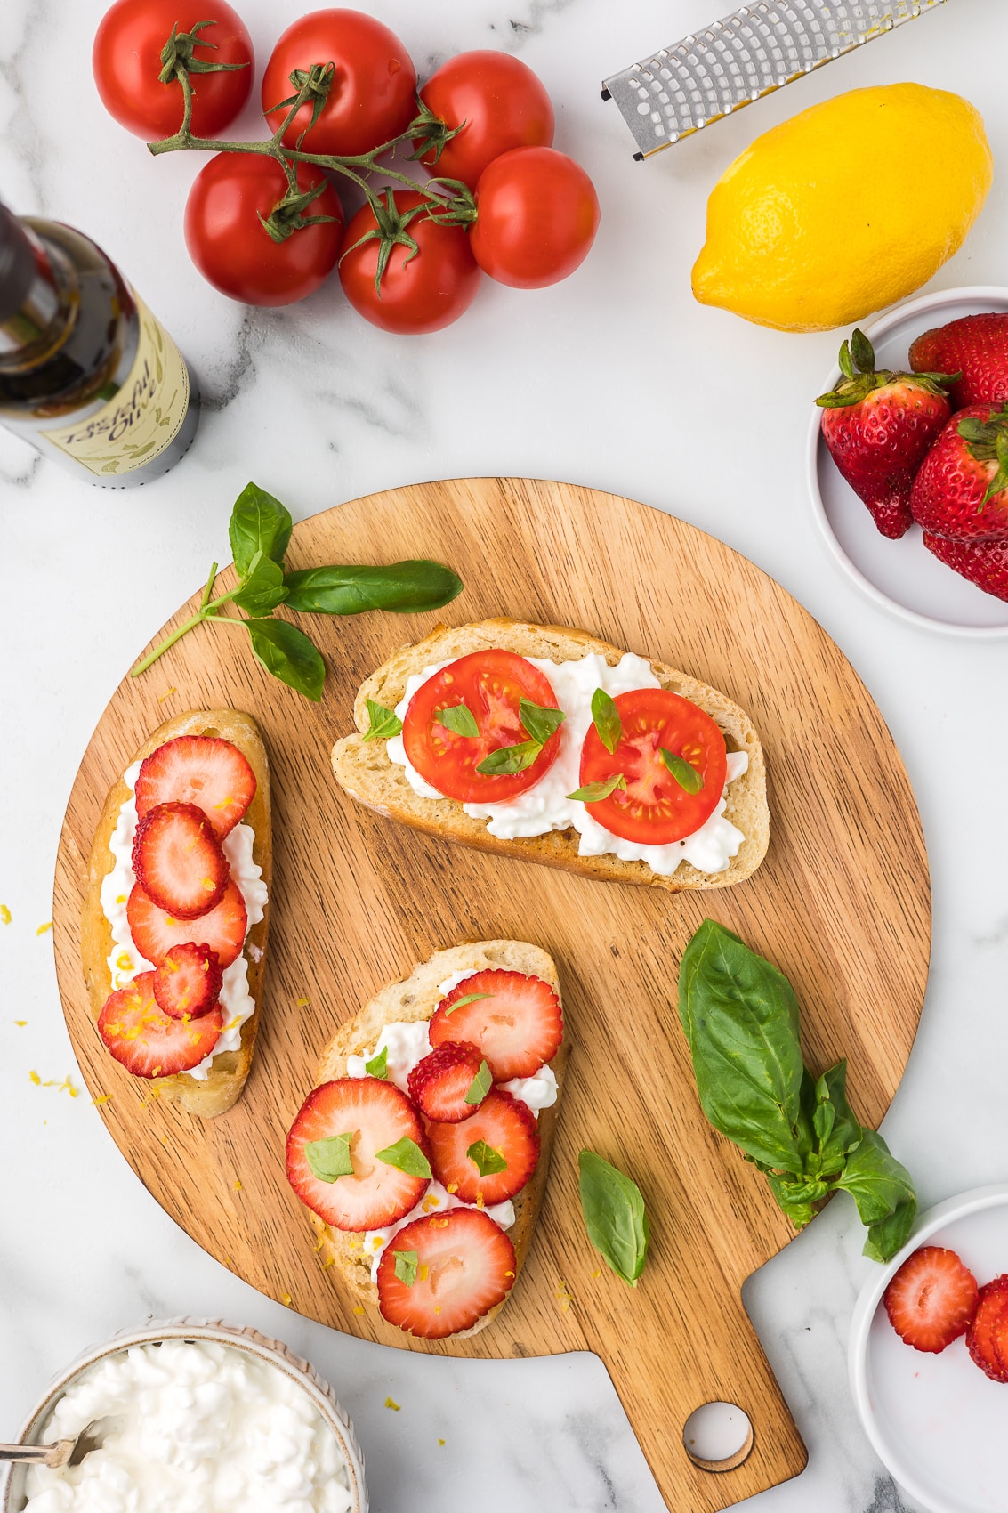
[[[160,725],[104,800],[80,950],[110,1056],[203,1118],[232,1108],[251,1067],[271,868],[269,763],[253,717],[191,710]]]

